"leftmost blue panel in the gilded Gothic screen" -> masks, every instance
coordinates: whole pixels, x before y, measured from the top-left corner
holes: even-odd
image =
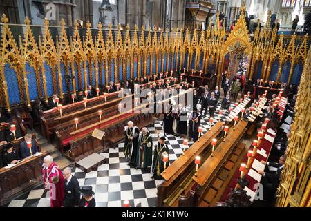
[[[19,96],[19,83],[17,81],[17,75],[15,70],[10,67],[10,64],[4,66],[4,75],[6,76],[6,82],[8,84],[8,98],[10,105],[21,102]]]

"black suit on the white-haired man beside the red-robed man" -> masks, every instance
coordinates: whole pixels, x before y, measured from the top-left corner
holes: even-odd
[[[74,207],[79,205],[80,185],[76,177],[71,176],[70,182],[66,184],[65,180],[65,196],[64,207]]]

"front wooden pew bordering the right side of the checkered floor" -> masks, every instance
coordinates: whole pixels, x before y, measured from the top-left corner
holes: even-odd
[[[176,201],[178,196],[184,191],[185,180],[189,178],[189,171],[194,171],[194,158],[197,155],[205,155],[210,152],[211,140],[220,137],[223,122],[216,123],[210,131],[200,137],[200,140],[193,144],[191,148],[185,151],[185,155],[181,155],[167,169],[166,173],[162,173],[164,182],[158,186],[157,206],[171,206],[171,202]],[[187,181],[186,181],[187,182]]]

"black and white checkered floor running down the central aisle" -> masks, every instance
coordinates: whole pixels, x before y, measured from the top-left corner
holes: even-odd
[[[232,104],[233,105],[233,104]],[[214,122],[219,117],[225,121],[225,115],[218,115],[220,102],[218,102],[215,112]],[[209,130],[209,113],[201,120],[203,133]],[[154,127],[149,127],[153,137],[153,144],[158,141],[158,134],[163,132],[162,121],[155,123]],[[169,146],[169,159],[172,163],[182,155],[182,138],[173,135],[167,135],[167,144]],[[189,142],[189,147],[194,142]],[[118,148],[109,148],[102,154],[109,158],[108,163],[99,166],[97,171],[84,173],[78,168],[73,168],[73,175],[77,177],[80,186],[93,186],[95,192],[96,206],[99,207],[120,207],[123,200],[129,200],[131,206],[141,203],[142,207],[156,206],[157,186],[163,180],[151,179],[149,171],[144,169],[135,169],[128,166],[123,154],[124,143],[119,144]],[[49,207],[50,198],[46,191],[40,186],[32,189],[29,193],[12,200],[9,207]]]

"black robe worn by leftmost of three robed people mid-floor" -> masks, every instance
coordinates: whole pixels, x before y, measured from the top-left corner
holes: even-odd
[[[124,136],[125,136],[125,143],[124,143],[124,155],[125,157],[131,157],[130,164],[134,166],[138,166],[139,157],[140,157],[140,146],[138,143],[138,136],[140,131],[136,126],[132,128],[125,127]],[[129,137],[133,137],[133,140],[129,139]]]

